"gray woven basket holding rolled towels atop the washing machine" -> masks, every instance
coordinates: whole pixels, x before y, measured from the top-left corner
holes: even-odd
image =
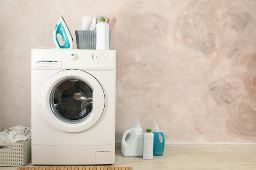
[[[109,47],[111,42],[111,31],[109,31]],[[95,50],[96,31],[76,30],[77,49]]]

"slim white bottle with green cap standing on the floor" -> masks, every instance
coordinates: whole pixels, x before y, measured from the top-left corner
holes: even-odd
[[[143,159],[153,159],[154,134],[151,129],[147,129],[143,135]]]

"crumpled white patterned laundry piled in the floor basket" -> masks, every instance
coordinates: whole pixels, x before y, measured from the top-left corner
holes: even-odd
[[[0,144],[25,142],[31,137],[31,128],[23,126],[13,126],[9,130],[0,132]],[[6,146],[2,146],[5,148]]]

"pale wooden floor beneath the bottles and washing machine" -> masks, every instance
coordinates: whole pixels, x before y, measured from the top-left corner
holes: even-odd
[[[163,156],[153,160],[124,157],[116,146],[115,163],[132,170],[256,170],[256,144],[250,145],[170,145]],[[26,166],[33,166],[29,162]],[[16,170],[18,167],[0,167]]]

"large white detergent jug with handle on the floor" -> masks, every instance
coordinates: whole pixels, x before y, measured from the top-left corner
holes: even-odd
[[[121,141],[121,153],[124,157],[142,157],[143,133],[139,122],[124,132]]]

